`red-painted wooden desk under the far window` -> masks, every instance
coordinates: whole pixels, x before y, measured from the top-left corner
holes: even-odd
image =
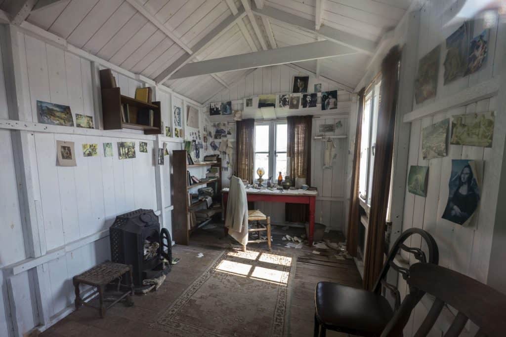
[[[271,203],[291,203],[291,204],[307,204],[309,205],[309,235],[308,235],[308,243],[309,246],[313,246],[313,233],[315,228],[315,203],[316,203],[316,194],[298,194],[297,192],[282,192],[282,193],[262,193],[262,192],[252,192],[249,193],[246,190],[246,197],[248,202],[252,201],[267,201]],[[227,200],[228,200],[228,190],[222,190],[222,199],[223,199],[223,214],[226,218],[227,212]],[[267,214],[268,215],[268,214]],[[227,229],[225,229],[227,230]]]

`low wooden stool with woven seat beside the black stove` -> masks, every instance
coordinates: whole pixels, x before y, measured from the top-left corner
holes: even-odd
[[[124,275],[126,277],[126,273],[130,273],[130,285],[121,284],[121,278]],[[120,286],[128,286],[129,291],[125,293],[120,293],[118,297],[107,307],[104,307],[104,292],[105,286],[115,279],[118,280],[117,288],[119,292]],[[72,279],[74,283],[74,292],[75,292],[75,310],[79,309],[81,305],[86,305],[95,309],[98,309],[100,313],[100,317],[104,318],[105,311],[112,307],[114,304],[121,301],[123,298],[126,298],[126,304],[129,306],[134,305],[134,301],[132,300],[132,296],[134,295],[134,279],[132,276],[132,266],[120,263],[114,263],[110,261],[106,261],[104,263],[99,264],[98,266],[89,269],[82,274],[76,275]],[[97,288],[92,294],[86,296],[81,299],[79,293],[79,284],[88,284]],[[98,293],[100,307],[95,307],[87,302],[89,298],[95,296]]]

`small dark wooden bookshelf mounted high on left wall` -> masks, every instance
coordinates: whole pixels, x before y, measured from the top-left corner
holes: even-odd
[[[104,130],[134,129],[142,130],[144,134],[161,133],[161,110],[160,102],[146,103],[121,94],[119,87],[111,87],[114,83],[107,81],[110,69],[100,71],[100,85],[102,94],[102,118],[104,120]],[[128,106],[128,116],[123,121],[121,107]],[[152,125],[150,111],[153,111]],[[147,116],[146,116],[147,115]],[[141,123],[138,118],[148,120]]]

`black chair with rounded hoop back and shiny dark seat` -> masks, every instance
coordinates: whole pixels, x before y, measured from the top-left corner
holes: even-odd
[[[407,238],[414,234],[418,234],[424,239],[428,249],[428,257],[423,250],[407,247],[404,244]],[[400,306],[399,291],[395,285],[387,283],[387,273],[392,268],[404,279],[409,276],[408,269],[394,262],[394,258],[400,250],[412,253],[418,261],[438,263],[438,247],[431,234],[423,229],[410,228],[404,231],[394,243],[373,292],[339,283],[318,282],[315,291],[315,337],[318,336],[318,333],[320,337],[325,337],[327,329],[360,336],[381,335],[393,317],[394,310]],[[395,298],[394,310],[381,294],[382,285]]]

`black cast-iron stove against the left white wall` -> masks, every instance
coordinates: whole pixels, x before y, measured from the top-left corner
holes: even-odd
[[[168,231],[160,232],[153,210],[138,209],[118,215],[109,228],[112,262],[132,265],[136,290],[148,287],[144,279],[167,273],[163,258],[172,264],[172,240]],[[167,270],[168,269],[168,270]]]

